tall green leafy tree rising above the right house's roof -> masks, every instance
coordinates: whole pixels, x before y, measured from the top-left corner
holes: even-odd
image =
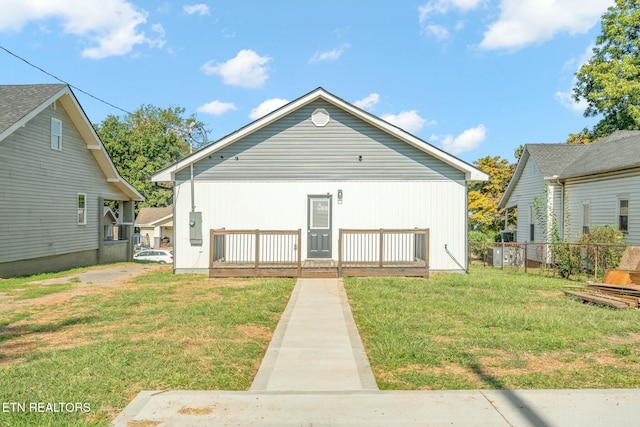
[[[573,89],[576,102],[587,101],[585,117],[603,116],[595,138],[640,128],[640,0],[616,0],[601,25],[593,57],[576,74]]]

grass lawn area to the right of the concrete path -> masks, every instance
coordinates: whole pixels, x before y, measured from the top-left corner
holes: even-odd
[[[568,283],[480,266],[345,280],[382,389],[636,387],[640,311],[582,304]]]

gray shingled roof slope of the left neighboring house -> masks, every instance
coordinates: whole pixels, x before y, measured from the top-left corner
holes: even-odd
[[[0,134],[65,87],[65,84],[1,85]]]

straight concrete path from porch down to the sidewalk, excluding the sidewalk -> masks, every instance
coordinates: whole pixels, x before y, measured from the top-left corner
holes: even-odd
[[[299,279],[252,391],[377,390],[340,279]]]

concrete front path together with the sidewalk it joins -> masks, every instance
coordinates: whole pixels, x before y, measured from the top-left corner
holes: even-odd
[[[114,426],[636,426],[640,389],[379,391],[341,279],[299,279],[250,391],[143,391]]]

